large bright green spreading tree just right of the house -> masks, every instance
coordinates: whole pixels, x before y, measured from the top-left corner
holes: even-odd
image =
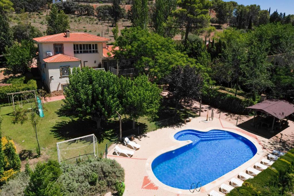
[[[158,80],[163,78],[176,65],[195,65],[196,61],[186,54],[176,50],[171,38],[164,38],[156,33],[143,30],[139,27],[123,29],[121,36],[116,39],[115,58],[118,61],[132,59],[133,66],[139,72]],[[200,65],[197,65],[201,68]]]

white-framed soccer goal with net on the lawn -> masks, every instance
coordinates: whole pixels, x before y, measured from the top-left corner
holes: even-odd
[[[94,134],[58,142],[59,163],[79,163],[97,158],[97,138]]]

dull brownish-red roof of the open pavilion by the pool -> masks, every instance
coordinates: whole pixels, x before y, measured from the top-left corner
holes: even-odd
[[[247,108],[262,110],[280,120],[294,113],[294,105],[292,103],[278,99],[267,99]]]

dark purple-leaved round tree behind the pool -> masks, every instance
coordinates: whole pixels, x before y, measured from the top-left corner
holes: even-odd
[[[173,67],[170,74],[165,77],[168,83],[168,97],[175,103],[175,115],[181,103],[191,104],[198,99],[203,89],[203,77],[195,67]]]

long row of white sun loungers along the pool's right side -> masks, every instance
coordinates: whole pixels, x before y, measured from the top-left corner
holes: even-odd
[[[253,178],[254,176],[258,175],[261,171],[265,170],[266,168],[270,167],[271,165],[273,165],[273,163],[275,163],[274,161],[275,160],[278,160],[278,158],[282,155],[285,155],[285,153],[283,152],[280,152],[278,150],[273,150],[273,154],[269,154],[268,155],[268,158],[270,160],[267,160],[267,159],[262,159],[260,163],[255,163],[255,168],[252,168],[252,167],[248,167],[247,168],[247,172],[248,173],[245,173],[245,172],[240,172],[239,173],[239,178],[241,180],[238,180],[236,178],[232,178],[230,180],[230,184],[232,186],[229,186],[229,185],[226,185],[226,184],[221,184],[220,185],[220,190],[221,192],[223,192],[224,194],[227,194],[229,193],[231,190],[233,190],[234,188],[236,187],[240,187],[242,186],[243,182],[245,180],[248,180],[250,178]],[[222,196],[220,193],[216,192],[215,190],[212,190],[210,193],[209,193],[210,196]]]

